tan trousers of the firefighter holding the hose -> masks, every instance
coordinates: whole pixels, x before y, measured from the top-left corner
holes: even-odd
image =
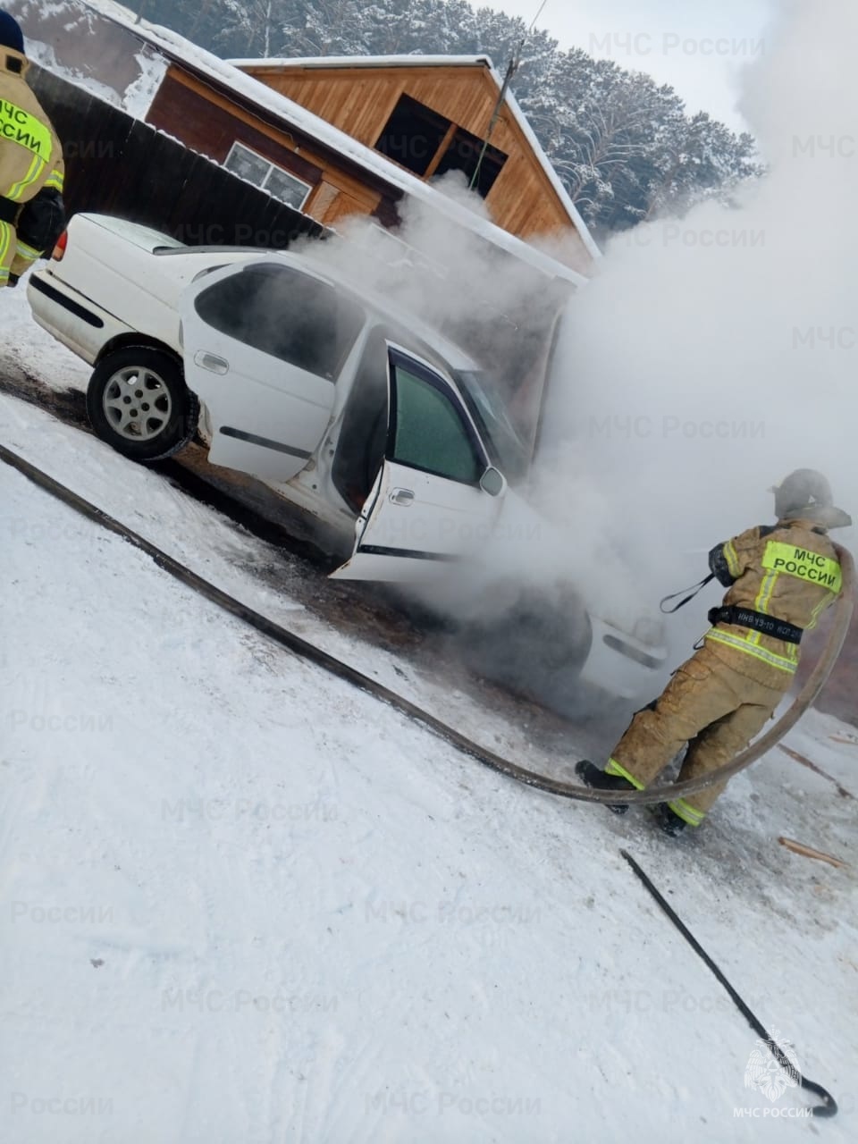
[[[774,669],[772,675],[771,684],[760,683],[704,644],[677,668],[656,702],[635,715],[605,771],[643,789],[688,744],[678,781],[710,774],[744,750],[771,718],[793,678]],[[716,784],[669,807],[699,826],[725,786]]]

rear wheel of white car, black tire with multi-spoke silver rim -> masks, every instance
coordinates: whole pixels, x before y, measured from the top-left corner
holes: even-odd
[[[197,430],[199,402],[172,353],[127,345],[108,353],[87,387],[87,415],[96,436],[133,461],[160,461]]]

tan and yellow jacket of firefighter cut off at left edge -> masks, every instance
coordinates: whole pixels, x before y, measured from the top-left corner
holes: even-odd
[[[0,286],[9,269],[23,270],[41,254],[21,244],[16,223],[40,191],[62,192],[63,152],[50,120],[25,80],[30,62],[0,47]]]

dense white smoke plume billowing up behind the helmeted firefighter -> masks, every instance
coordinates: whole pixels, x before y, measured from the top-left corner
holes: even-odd
[[[615,237],[569,309],[541,494],[577,490],[570,527],[591,506],[644,596],[771,521],[794,468],[858,517],[857,35],[850,0],[781,3],[741,102],[769,175]]]

